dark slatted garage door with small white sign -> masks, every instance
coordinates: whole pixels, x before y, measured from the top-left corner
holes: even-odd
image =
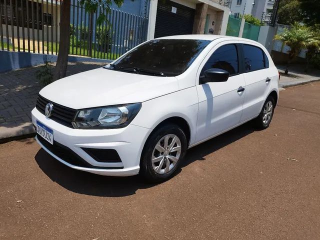
[[[158,0],[154,37],[191,34],[195,10],[169,0]]]

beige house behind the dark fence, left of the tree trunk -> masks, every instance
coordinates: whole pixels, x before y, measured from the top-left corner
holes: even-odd
[[[4,42],[28,45],[30,50],[44,47],[45,39],[59,39],[61,0],[0,0],[0,32]],[[56,7],[52,7],[52,5]],[[57,27],[53,27],[56,25]],[[17,36],[19,36],[17,38]],[[25,40],[20,37],[25,36]],[[26,38],[34,40],[32,44]]]

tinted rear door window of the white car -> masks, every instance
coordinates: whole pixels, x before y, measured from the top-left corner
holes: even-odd
[[[243,44],[245,71],[255,71],[264,68],[263,51],[261,48]]]

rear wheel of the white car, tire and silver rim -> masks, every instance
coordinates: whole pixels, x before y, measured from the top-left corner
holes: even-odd
[[[272,107],[271,112],[269,112],[270,106]],[[274,106],[275,106],[274,98],[272,96],[268,96],[262,106],[260,114],[254,119],[255,125],[257,128],[265,129],[269,126],[272,120]]]

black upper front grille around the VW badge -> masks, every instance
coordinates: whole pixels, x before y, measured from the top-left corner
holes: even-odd
[[[60,104],[54,103],[46,98],[44,98],[43,96],[41,96],[40,94],[38,95],[38,98],[36,100],[36,109],[38,109],[39,112],[41,112],[42,114],[44,114],[44,110],[45,110],[45,105],[51,102],[53,104],[53,109],[52,109],[52,113],[50,116],[50,119],[68,126],[68,127],[72,127],[72,120],[75,116],[76,110],[66,107],[66,106],[62,106]]]

